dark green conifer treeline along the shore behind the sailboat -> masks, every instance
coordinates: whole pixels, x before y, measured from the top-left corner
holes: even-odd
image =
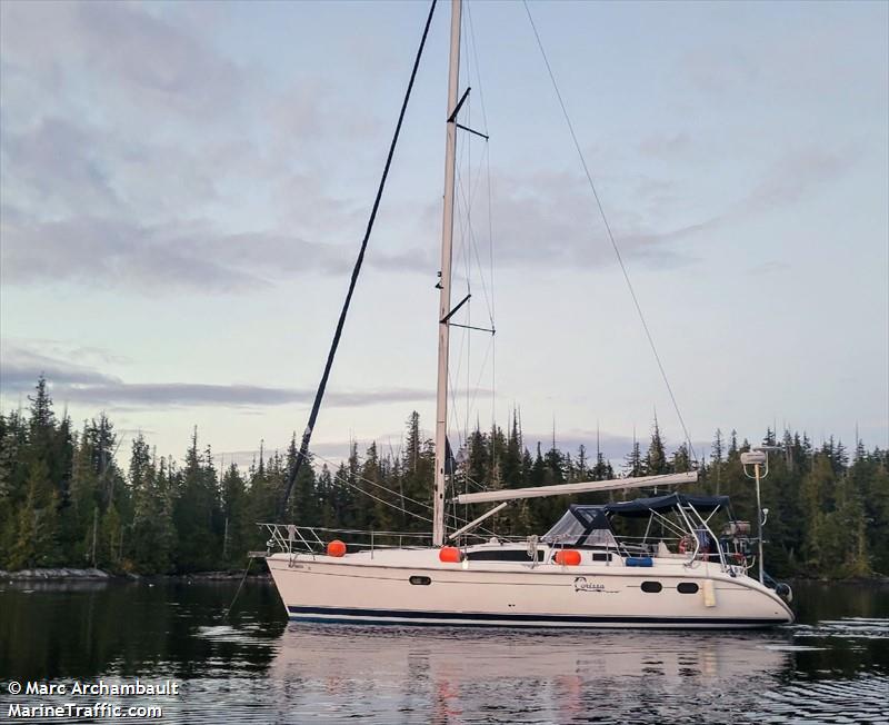
[[[74,430],[70,418],[56,416],[42,378],[29,401],[27,414],[0,416],[0,568],[188,573],[241,567],[247,552],[264,549],[267,535],[256,524],[276,520],[296,440],[283,454],[260,451],[247,470],[234,464],[219,470],[197,431],[181,463],[158,457],[139,435],[122,469],[122,441],[104,414]],[[816,447],[805,434],[785,431],[779,439],[770,429],[763,443],[782,446],[771,454],[762,486],[767,567],[778,576],[889,574],[889,451],[857,443],[850,455],[833,438]],[[717,431],[708,459],[698,463],[696,490],[730,495],[736,514],[756,520],[755,488],[740,464],[748,448],[733,431],[728,440]],[[617,471],[583,446],[570,454],[538,443],[532,453],[513,416],[507,431],[471,433],[455,466],[455,487],[471,491],[685,471],[692,461],[685,445],[668,454],[657,421],[645,450],[633,445]],[[371,444],[359,456],[353,445],[336,467],[303,466],[284,519],[428,533],[433,468],[432,441],[413,413],[398,455],[382,455]],[[542,534],[569,503],[616,496],[516,501],[486,527],[500,535]],[[452,506],[449,524],[479,513]]]

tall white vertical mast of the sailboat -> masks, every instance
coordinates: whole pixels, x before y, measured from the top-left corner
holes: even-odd
[[[448,72],[448,138],[444,146],[444,210],[441,229],[441,270],[438,307],[438,386],[436,388],[436,490],[432,501],[432,546],[444,544],[444,468],[448,440],[448,351],[451,308],[451,250],[453,244],[453,189],[457,162],[457,86],[460,80],[461,0],[451,0],[451,53]]]

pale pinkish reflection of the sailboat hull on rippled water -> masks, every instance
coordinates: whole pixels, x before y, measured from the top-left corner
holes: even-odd
[[[752,697],[791,669],[792,655],[769,648],[786,637],[663,632],[568,633],[291,625],[269,677],[298,688],[300,713],[374,722],[585,722],[651,708],[672,715],[697,693],[718,704],[731,691]],[[638,687],[628,686],[638,683]],[[737,683],[745,683],[740,688]],[[371,698],[362,694],[373,693]],[[752,702],[752,701],[751,701]],[[292,703],[291,703],[292,704]],[[368,713],[370,707],[373,712]],[[292,713],[292,711],[291,711]],[[687,715],[688,713],[686,713]],[[390,717],[391,719],[387,719]],[[603,721],[605,722],[605,721]],[[610,721],[609,721],[610,722]],[[652,722],[646,719],[646,722]],[[712,722],[722,722],[715,717]]]

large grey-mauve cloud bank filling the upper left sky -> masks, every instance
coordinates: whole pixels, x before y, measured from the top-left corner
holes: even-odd
[[[343,129],[350,142],[374,133],[372,115],[317,78],[272,87],[221,54],[212,8],[1,10],[6,286],[217,294],[351,269],[367,206],[324,189],[319,149]],[[368,264],[418,258],[374,250]]]

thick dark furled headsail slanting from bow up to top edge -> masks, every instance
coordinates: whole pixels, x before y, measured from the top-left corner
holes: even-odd
[[[417,70],[420,67],[420,58],[423,54],[423,48],[426,47],[426,39],[429,36],[429,26],[432,23],[432,14],[436,11],[436,2],[437,0],[432,0],[432,4],[429,7],[429,16],[426,19],[426,26],[423,27],[423,34],[420,39],[420,47],[417,49],[417,57],[413,59],[413,68],[411,69],[410,80],[408,81],[408,88],[404,92],[404,100],[401,102],[401,111],[398,115],[398,123],[396,123],[396,130],[392,135],[392,142],[389,146],[389,155],[386,158],[386,166],[382,170],[382,177],[380,178],[380,183],[377,189],[377,198],[373,200],[373,208],[370,212],[370,218],[368,219],[367,230],[364,231],[364,238],[361,241],[361,249],[358,252],[358,258],[356,259],[354,267],[352,269],[352,277],[349,280],[349,291],[346,294],[346,301],[342,304],[342,310],[340,311],[339,320],[337,321],[337,330],[333,334],[333,340],[330,344],[330,351],[327,356],[327,362],[324,364],[324,371],[321,376],[321,383],[318,385],[318,390],[314,395],[314,403],[312,404],[311,413],[309,414],[309,423],[306,426],[306,430],[302,434],[302,443],[300,444],[299,455],[297,456],[293,465],[290,467],[290,471],[287,477],[287,485],[284,486],[283,495],[281,496],[281,503],[278,507],[278,518],[279,520],[283,517],[284,510],[287,509],[287,501],[290,498],[290,491],[293,489],[293,484],[297,480],[297,476],[299,475],[299,470],[302,467],[303,461],[308,457],[309,454],[309,444],[311,443],[312,438],[312,429],[314,428],[314,424],[318,420],[318,411],[321,408],[321,400],[324,397],[324,389],[327,388],[327,381],[330,378],[330,370],[333,367],[333,358],[337,355],[337,348],[340,344],[340,337],[342,336],[342,328],[346,325],[346,316],[349,312],[349,305],[352,301],[352,294],[354,292],[356,284],[358,282],[358,275],[361,271],[361,264],[364,260],[364,251],[368,248],[368,241],[370,240],[370,232],[373,229],[373,221],[377,219],[377,211],[380,208],[380,200],[382,199],[382,192],[386,188],[386,179],[389,176],[389,168],[392,165],[392,157],[394,156],[396,145],[398,143],[398,137],[401,133],[401,125],[404,121],[404,113],[408,110],[408,101],[410,100],[410,93],[413,89],[413,81],[417,78]]]

